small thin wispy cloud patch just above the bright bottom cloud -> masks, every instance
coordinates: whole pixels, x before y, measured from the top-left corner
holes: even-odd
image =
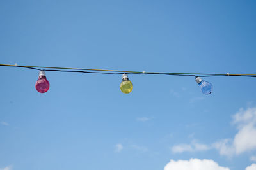
[[[198,143],[196,141],[192,141],[191,144],[179,144],[172,146],[172,153],[182,153],[182,152],[196,152],[196,151],[204,151],[211,149],[210,146],[207,146],[202,143]]]

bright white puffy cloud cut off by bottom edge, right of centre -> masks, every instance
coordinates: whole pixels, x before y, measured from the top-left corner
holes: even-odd
[[[221,167],[213,160],[190,159],[190,160],[170,160],[164,170],[230,170],[228,167]],[[246,169],[248,170],[248,169]],[[252,170],[252,169],[250,169]]]

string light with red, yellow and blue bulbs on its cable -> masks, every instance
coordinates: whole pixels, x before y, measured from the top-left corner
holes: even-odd
[[[45,71],[59,71],[59,72],[75,72],[75,73],[92,73],[92,74],[122,74],[122,82],[120,84],[120,90],[125,94],[129,94],[133,85],[129,80],[127,74],[157,74],[167,76],[193,76],[196,78],[196,82],[200,86],[200,90],[203,94],[212,93],[212,84],[202,80],[202,77],[214,77],[214,76],[243,76],[256,78],[256,74],[210,74],[210,73],[161,73],[161,72],[145,72],[145,71],[120,71],[120,70],[108,70],[108,69],[83,69],[83,68],[70,68],[70,67],[42,67],[42,66],[19,66],[18,64],[0,64],[0,66],[6,67],[22,67],[27,69],[35,69],[40,71],[38,80],[36,81],[36,90],[40,93],[45,93],[49,90],[50,84],[45,76]]]

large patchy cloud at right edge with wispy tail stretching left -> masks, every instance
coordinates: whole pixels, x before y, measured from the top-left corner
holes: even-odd
[[[220,155],[232,157],[256,150],[256,108],[240,109],[233,116],[232,123],[237,127],[237,133],[233,139],[222,139],[210,145],[198,143],[194,140],[190,144],[181,143],[172,146],[172,153],[217,149]],[[250,157],[250,160],[256,162],[256,156]],[[246,170],[252,170],[252,168],[256,167],[252,165],[246,167]]]

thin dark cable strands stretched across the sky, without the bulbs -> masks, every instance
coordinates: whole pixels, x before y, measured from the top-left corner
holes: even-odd
[[[193,77],[216,77],[216,76],[243,76],[243,77],[256,77],[256,74],[215,74],[215,73],[161,73],[161,72],[145,72],[145,71],[120,71],[108,69],[84,69],[84,68],[71,68],[71,67],[42,67],[42,66],[19,66],[17,64],[0,64],[6,67],[23,67],[27,69],[43,70],[43,71],[58,71],[58,72],[72,72],[72,73],[93,73],[93,74],[159,74],[168,76],[193,76]]]

